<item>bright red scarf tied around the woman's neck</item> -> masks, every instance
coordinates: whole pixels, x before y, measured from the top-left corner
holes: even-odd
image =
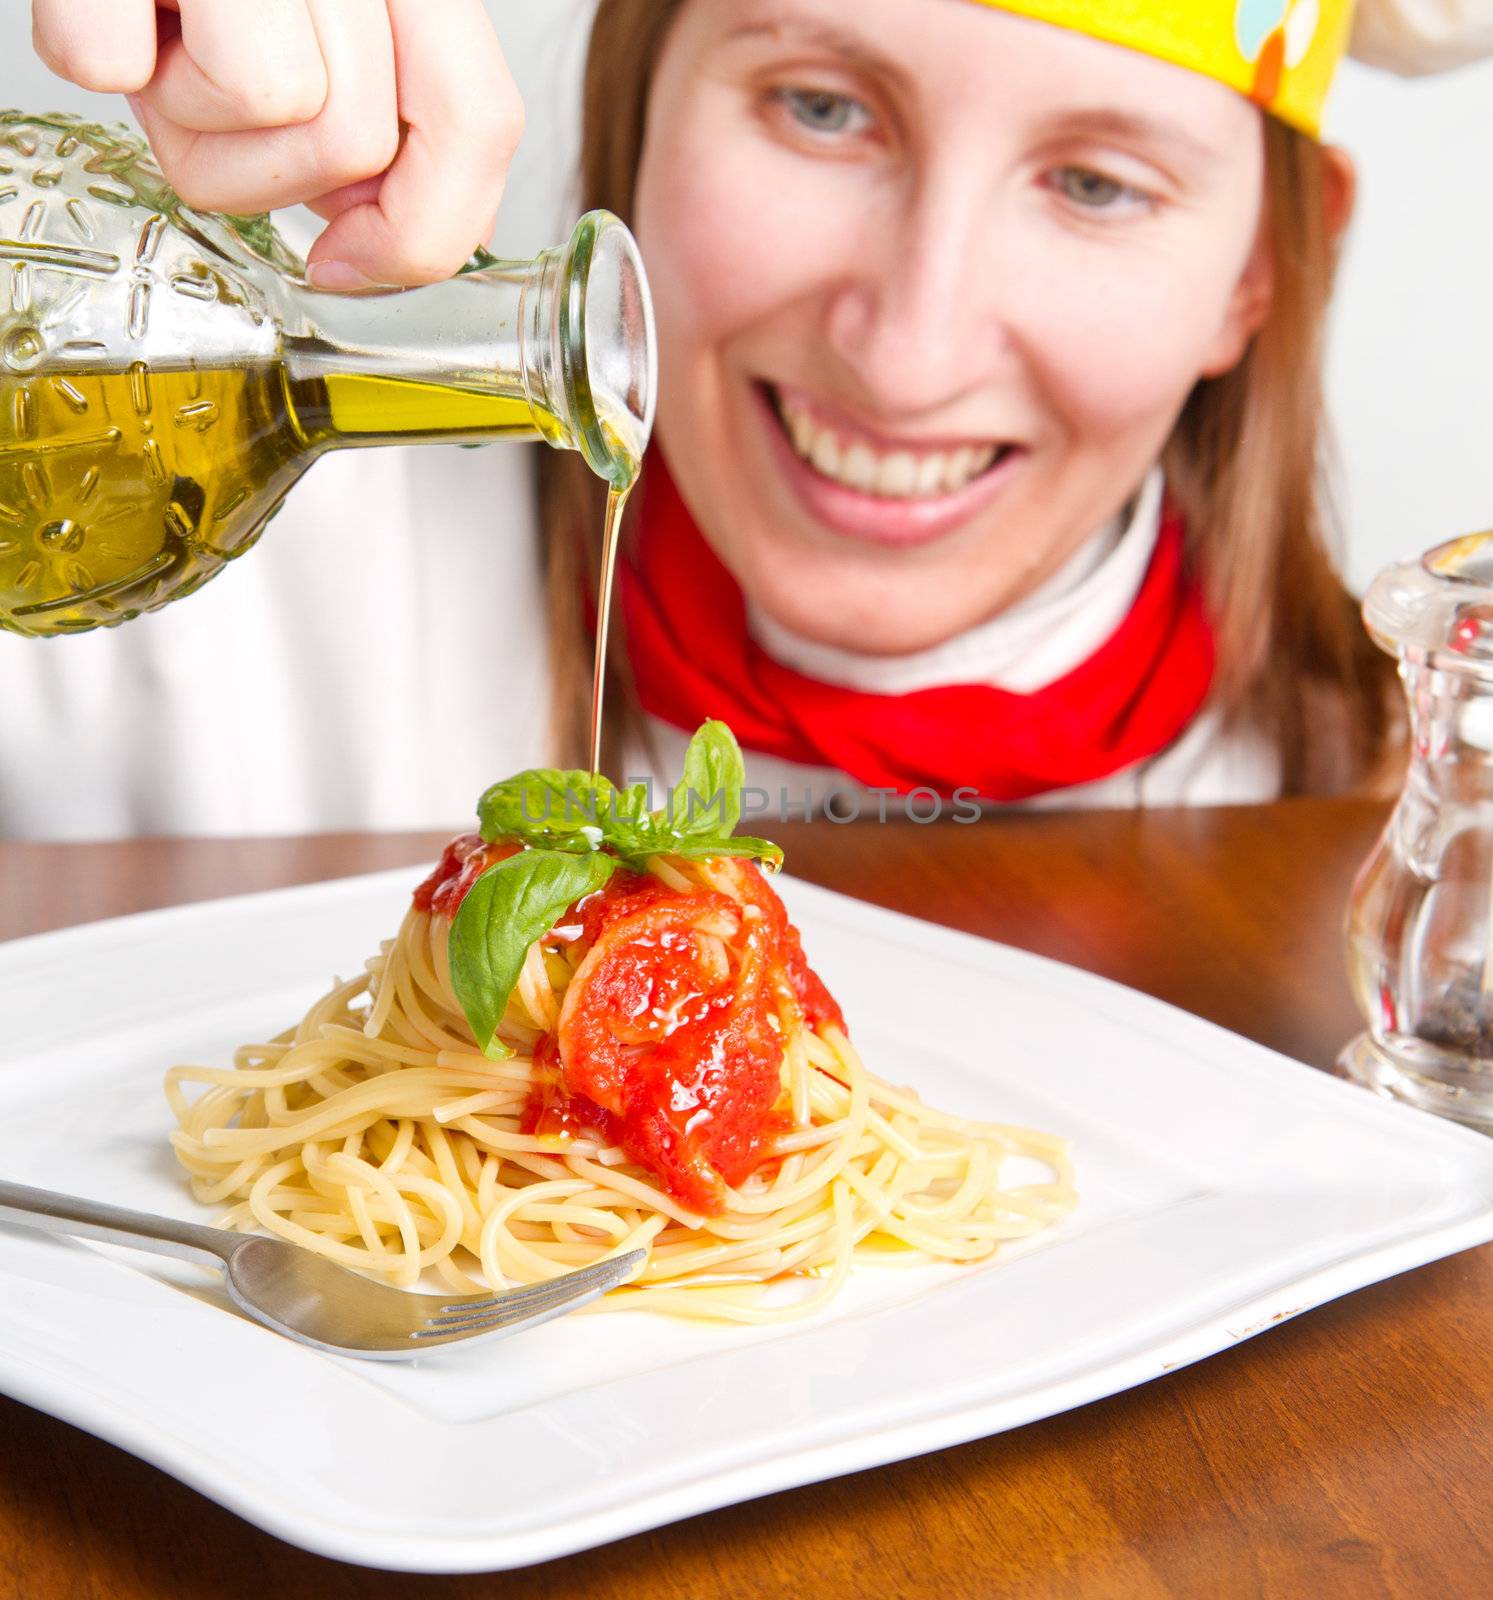
[[[973,787],[1011,802],[1155,755],[1207,699],[1213,630],[1175,510],[1162,517],[1130,613],[1055,683],[1029,694],[987,683],[869,694],[807,678],[762,650],[736,581],[656,456],[638,493],[635,542],[618,573],[627,650],[643,709],[677,728],[720,717],[747,750],[839,768],[867,787],[946,797]]]

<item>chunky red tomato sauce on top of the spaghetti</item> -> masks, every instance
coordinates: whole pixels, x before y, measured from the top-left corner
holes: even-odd
[[[480,874],[517,848],[453,840],[414,904],[453,917]],[[810,1027],[843,1027],[762,872],[733,859],[717,877],[730,893],[674,890],[619,867],[558,918],[549,942],[584,955],[558,1032],[534,1048],[520,1123],[621,1146],[704,1214],[723,1210],[726,1189],[791,1125],[784,1008]]]

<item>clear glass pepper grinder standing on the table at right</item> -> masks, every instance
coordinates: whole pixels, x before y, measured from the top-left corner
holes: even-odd
[[[1493,1130],[1493,533],[1381,573],[1363,621],[1399,656],[1411,741],[1405,790],[1349,902],[1368,1027],[1339,1064]]]

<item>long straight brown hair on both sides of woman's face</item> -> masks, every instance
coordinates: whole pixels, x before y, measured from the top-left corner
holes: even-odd
[[[632,221],[653,69],[682,0],[600,0],[586,61],[581,197]],[[1397,731],[1394,664],[1338,576],[1325,517],[1322,338],[1336,267],[1320,146],[1266,118],[1271,310],[1243,360],[1203,379],[1163,451],[1218,638],[1213,706],[1274,739],[1285,794],[1383,782]],[[544,451],[539,525],[557,682],[558,758],[579,760],[590,712],[590,619],[603,491]],[[603,766],[635,749],[624,629],[613,616]]]

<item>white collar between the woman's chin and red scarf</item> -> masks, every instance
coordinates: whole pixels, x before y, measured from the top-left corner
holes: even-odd
[[[944,683],[989,683],[1031,694],[1072,672],[1120,626],[1139,594],[1162,526],[1162,469],[1152,467],[1127,512],[1087,539],[1016,605],[965,634],[906,656],[863,656],[800,638],[747,606],[747,627],[803,677],[869,694],[911,694]]]

